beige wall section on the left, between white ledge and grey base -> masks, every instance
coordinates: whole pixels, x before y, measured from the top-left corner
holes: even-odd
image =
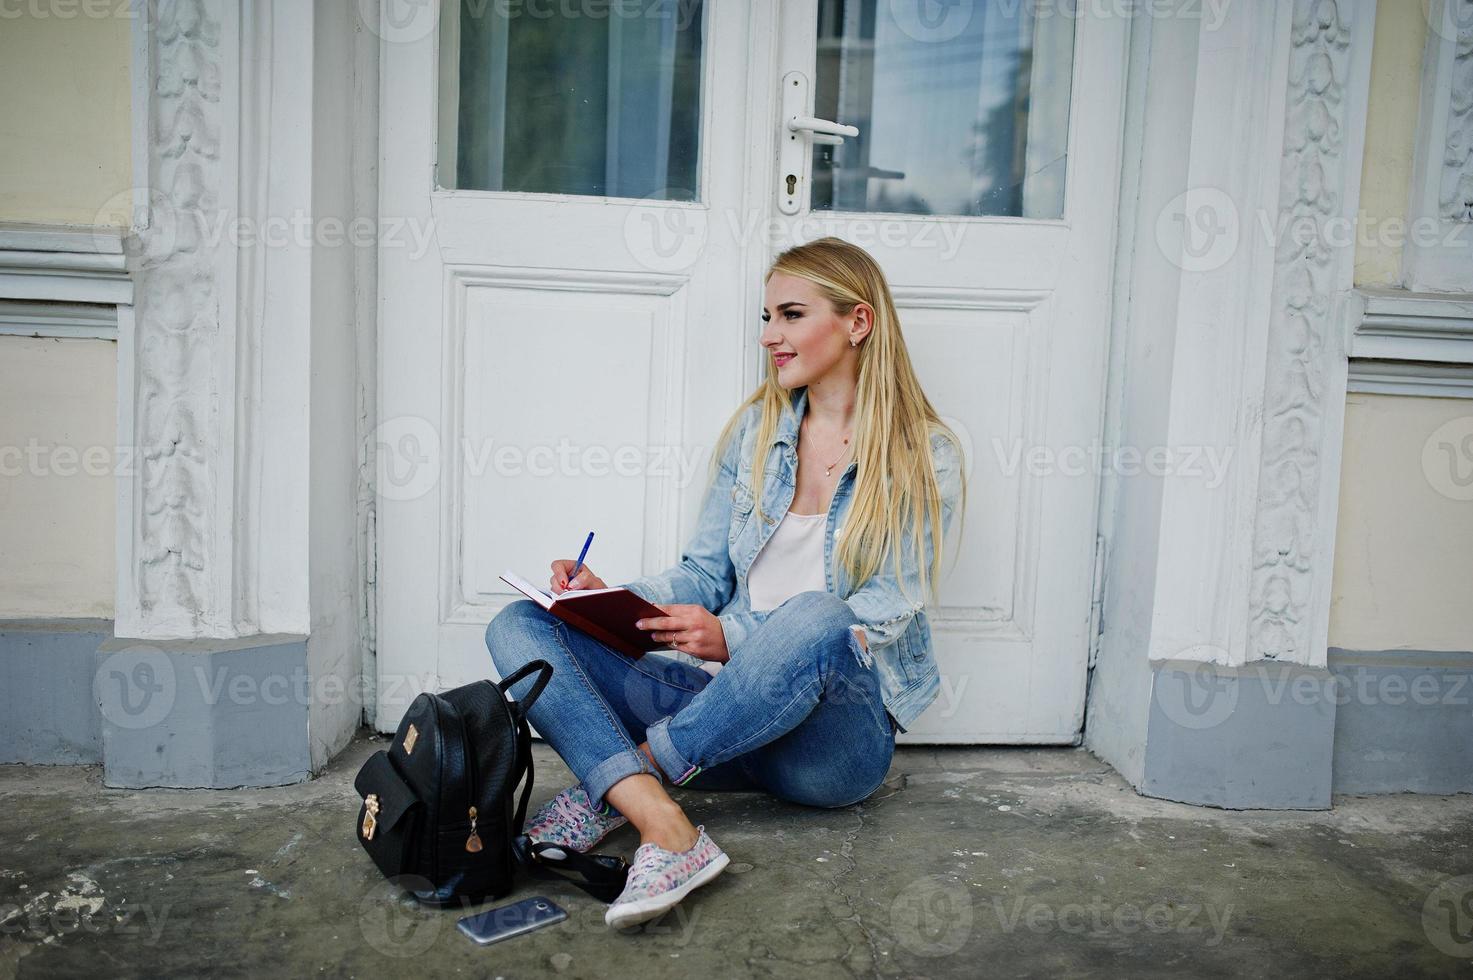
[[[0,619],[110,617],[118,345],[0,336]]]

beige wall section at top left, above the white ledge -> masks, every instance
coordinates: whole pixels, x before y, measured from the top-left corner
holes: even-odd
[[[0,10],[0,221],[124,224],[125,203],[116,205],[133,184],[130,9],[110,1]]]

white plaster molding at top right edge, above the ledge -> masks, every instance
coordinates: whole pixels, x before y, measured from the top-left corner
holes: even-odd
[[[1473,0],[1432,0],[1402,281],[1473,292]]]

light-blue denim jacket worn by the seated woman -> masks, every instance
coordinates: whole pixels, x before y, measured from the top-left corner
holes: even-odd
[[[807,410],[807,388],[792,392],[778,423],[776,439],[769,449],[763,473],[760,522],[753,514],[753,454],[762,407],[748,405],[741,430],[722,457],[720,472],[706,492],[701,514],[689,545],[675,567],[647,575],[623,588],[657,604],[695,604],[717,615],[726,637],[728,653],[757,628],[772,610],[753,612],[747,589],[747,572],[757,553],[776,531],[778,522],[792,505],[798,472],[798,423]],[[941,535],[952,525],[952,514],[960,498],[962,461],[955,444],[944,435],[931,435],[937,485],[941,492]],[[931,625],[921,601],[913,539],[904,535],[900,567],[907,598],[896,581],[894,556],[887,551],[879,569],[859,591],[853,591],[848,573],[835,569],[835,541],[844,533],[844,520],[853,500],[857,463],[851,461],[840,475],[829,503],[823,536],[823,579],[828,591],[844,598],[863,625],[869,644],[868,654],[857,650],[866,668],[875,668],[885,709],[900,731],[935,700],[941,690],[940,673],[931,651]],[[903,529],[909,528],[903,522]],[[932,553],[932,533],[927,526],[922,554]],[[681,654],[685,656],[685,654]]]

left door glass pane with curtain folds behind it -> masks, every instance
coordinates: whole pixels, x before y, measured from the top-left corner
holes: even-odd
[[[701,0],[442,9],[442,187],[697,200]]]

